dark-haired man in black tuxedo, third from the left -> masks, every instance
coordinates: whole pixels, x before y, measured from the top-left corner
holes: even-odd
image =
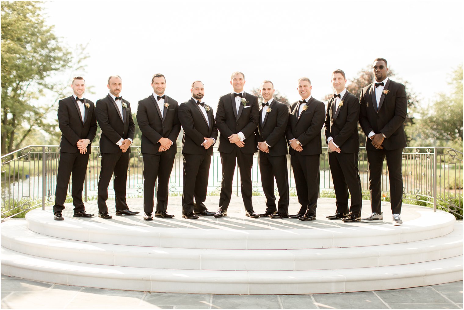
[[[166,78],[156,73],[151,79],[153,93],[139,101],[137,123],[142,131],[143,156],[143,220],[153,220],[155,181],[155,217],[170,219],[174,215],[166,212],[168,207],[168,183],[177,153],[176,140],[180,132],[177,116],[179,105],[164,94]]]

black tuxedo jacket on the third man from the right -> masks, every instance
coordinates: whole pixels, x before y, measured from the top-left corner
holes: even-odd
[[[308,109],[298,118],[299,101],[290,105],[289,122],[287,125],[287,140],[296,139],[303,146],[303,151],[297,152],[290,148],[290,155],[322,154],[321,129],[325,121],[325,105],[314,97],[306,103]]]

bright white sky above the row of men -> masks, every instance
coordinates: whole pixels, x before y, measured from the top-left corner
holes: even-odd
[[[215,111],[233,71],[245,73],[245,90],[269,79],[293,102],[298,77],[321,99],[333,70],[349,83],[376,57],[424,104],[463,62],[462,1],[51,1],[45,12],[65,44],[89,44],[86,70],[70,72],[94,86],[85,97],[106,96],[108,76],[119,74],[134,111],[158,72],[179,103],[202,80]]]

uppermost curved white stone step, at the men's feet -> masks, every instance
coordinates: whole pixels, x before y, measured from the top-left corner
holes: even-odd
[[[193,249],[278,250],[387,245],[432,239],[451,233],[455,222],[452,214],[443,211],[434,213],[430,208],[422,210],[418,211],[420,215],[417,218],[405,221],[403,226],[354,223],[347,227],[324,229],[311,222],[308,224],[293,219],[285,220],[295,222],[294,225],[299,225],[299,229],[269,229],[269,226],[266,229],[238,229],[230,225],[230,218],[223,222],[200,220],[196,223],[204,224],[201,229],[153,227],[144,223],[123,222],[122,219],[84,220],[66,217],[64,221],[54,221],[51,211],[39,209],[27,213],[26,219],[30,230],[62,239]],[[256,219],[253,223],[260,227],[260,223],[265,223],[265,220]],[[326,223],[328,227],[332,225],[329,221]]]

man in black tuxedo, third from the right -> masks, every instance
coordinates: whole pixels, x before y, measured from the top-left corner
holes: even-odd
[[[286,134],[290,144],[290,164],[295,176],[296,194],[301,207],[297,214],[290,217],[311,221],[316,220],[325,106],[311,96],[312,86],[308,77],[298,79],[297,89],[301,100],[290,105]]]

